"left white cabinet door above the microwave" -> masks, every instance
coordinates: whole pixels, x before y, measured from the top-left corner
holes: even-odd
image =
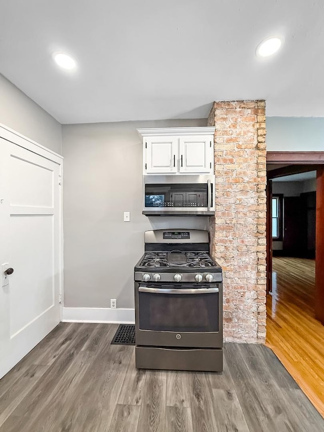
[[[177,137],[148,137],[145,145],[145,173],[176,173],[178,171]]]

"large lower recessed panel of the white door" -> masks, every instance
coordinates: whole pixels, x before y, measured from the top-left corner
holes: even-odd
[[[54,306],[53,222],[53,215],[11,215],[11,337]]]

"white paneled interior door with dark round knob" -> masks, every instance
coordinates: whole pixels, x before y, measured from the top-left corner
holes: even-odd
[[[59,168],[0,138],[0,378],[60,322]]]

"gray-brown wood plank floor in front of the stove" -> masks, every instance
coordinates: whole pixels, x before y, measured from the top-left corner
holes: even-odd
[[[225,344],[224,372],[136,370],[117,325],[61,323],[0,380],[0,432],[317,432],[273,352]]]

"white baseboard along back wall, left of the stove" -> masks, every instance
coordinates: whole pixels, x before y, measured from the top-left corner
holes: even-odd
[[[135,324],[135,309],[109,307],[63,307],[64,323]]]

